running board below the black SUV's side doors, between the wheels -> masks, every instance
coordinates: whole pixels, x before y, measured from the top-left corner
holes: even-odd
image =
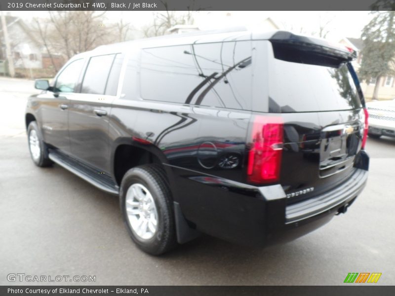
[[[119,194],[118,185],[114,183],[110,176],[103,174],[103,172],[88,167],[87,165],[82,164],[81,162],[53,149],[49,150],[48,157],[53,162],[72,172],[93,186],[96,186],[97,188],[111,194]]]

